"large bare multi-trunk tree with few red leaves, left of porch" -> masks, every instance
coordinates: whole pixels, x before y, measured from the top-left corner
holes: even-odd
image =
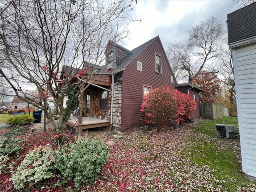
[[[18,98],[45,112],[57,132],[46,102],[50,93],[58,104],[63,122],[64,91],[70,90],[78,71],[66,74],[58,84],[63,65],[88,70],[88,79],[76,82],[78,94],[92,82],[92,75],[104,63],[108,40],[118,42],[128,35],[130,12],[137,1],[115,0],[5,0],[0,10],[0,74]],[[39,95],[24,89],[32,84]]]

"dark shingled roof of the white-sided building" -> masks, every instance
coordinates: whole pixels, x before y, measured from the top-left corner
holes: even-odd
[[[256,2],[227,15],[228,44],[256,36]]]

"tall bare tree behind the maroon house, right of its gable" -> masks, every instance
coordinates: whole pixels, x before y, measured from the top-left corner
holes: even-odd
[[[176,74],[182,73],[188,82],[192,82],[193,76],[199,74],[210,60],[220,55],[220,38],[223,34],[222,22],[212,17],[192,27],[185,43],[170,43],[168,54]]]

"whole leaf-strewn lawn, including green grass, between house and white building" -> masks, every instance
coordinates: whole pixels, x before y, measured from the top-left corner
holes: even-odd
[[[84,186],[83,191],[216,191],[255,192],[255,184],[241,172],[240,142],[236,139],[216,137],[215,124],[234,124],[237,118],[225,117],[220,120],[201,120],[183,124],[180,130],[137,131],[114,139],[108,132],[83,132],[83,137],[114,141],[110,146],[110,158],[95,182]],[[30,129],[29,129],[30,131]],[[36,146],[52,144],[54,133],[33,134],[24,139],[22,154]],[[73,138],[71,129],[65,132],[66,138]],[[13,161],[14,166],[20,160]],[[1,173],[0,183],[11,184],[10,170]],[[31,185],[32,186],[32,185]],[[52,180],[42,188],[34,185],[34,191],[63,191],[74,189],[70,181],[61,188],[54,188]],[[42,186],[42,185],[41,185]],[[8,191],[8,190],[6,190]]]

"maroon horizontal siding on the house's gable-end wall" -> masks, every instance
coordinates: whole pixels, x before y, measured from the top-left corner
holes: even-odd
[[[162,74],[157,73],[155,70],[155,54],[161,56]],[[142,62],[142,71],[137,70],[137,61]],[[155,88],[166,84],[175,88],[176,80],[174,78],[172,83],[171,76],[174,77],[174,74],[158,37],[123,72],[122,132],[127,132],[131,128],[146,124],[146,116],[140,112],[143,86]]]

